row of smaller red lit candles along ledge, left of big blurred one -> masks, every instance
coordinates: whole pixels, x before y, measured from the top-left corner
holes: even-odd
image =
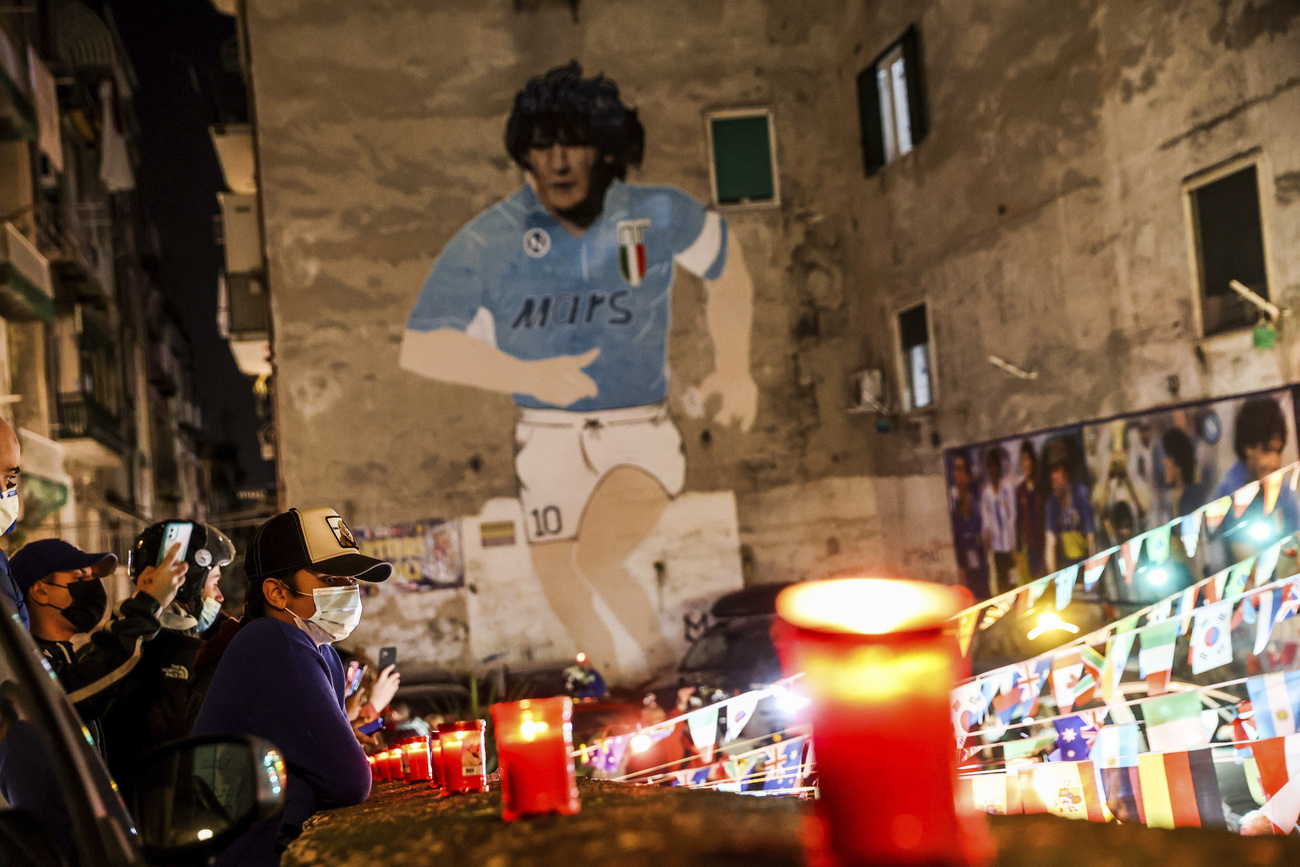
[[[514,822],[580,809],[573,772],[573,702],[568,697],[493,705],[500,767],[502,816]],[[486,720],[439,725],[432,734],[403,738],[369,757],[376,783],[425,783],[443,797],[488,792],[484,762]]]

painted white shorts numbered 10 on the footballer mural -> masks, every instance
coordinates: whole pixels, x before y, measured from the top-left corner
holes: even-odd
[[[616,467],[644,469],[668,497],[686,482],[681,433],[663,404],[594,412],[521,408],[515,445],[529,542],[577,538],[592,493]]]

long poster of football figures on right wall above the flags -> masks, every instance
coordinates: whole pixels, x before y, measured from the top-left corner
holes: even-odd
[[[953,549],[976,598],[1188,515],[1297,459],[1294,389],[949,448]],[[1295,528],[1294,493],[1279,520]]]

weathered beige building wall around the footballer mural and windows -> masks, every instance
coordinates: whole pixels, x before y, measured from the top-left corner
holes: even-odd
[[[1300,365],[1291,325],[1275,351],[1199,339],[1180,190],[1260,148],[1275,190],[1274,298],[1295,302],[1292,3],[248,6],[285,497],[333,504],[359,526],[468,516],[467,588],[381,597],[363,641],[420,645],[412,653],[448,664],[573,649],[547,621],[523,543],[471,547],[480,517],[520,517],[511,400],[396,361],[437,252],[521,182],[500,143],[512,94],[571,57],[616,79],[641,112],[646,160],[632,181],[701,200],[705,112],[775,112],[781,205],[727,214],[755,285],[749,433],[690,399],[710,370],[708,333],[701,283],[679,274],[675,287],[670,404],[688,498],[712,504],[714,529],[686,533],[666,512],[628,558],[660,594],[666,629],[741,573],[950,581],[945,446],[1148,408],[1173,398],[1170,374],[1191,399],[1291,381]],[[931,130],[864,178],[854,78],[914,21]],[[871,416],[845,412],[850,376],[881,367],[896,378],[892,317],[918,300],[933,322],[939,403],[878,433]],[[991,352],[1039,378],[1001,373]],[[719,493],[734,504],[731,525],[731,506],[708,499]],[[686,503],[672,510],[690,513]],[[641,655],[653,667],[675,646]],[[633,649],[618,655],[637,666]]]

